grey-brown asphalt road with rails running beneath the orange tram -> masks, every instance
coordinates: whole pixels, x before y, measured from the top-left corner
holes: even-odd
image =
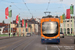
[[[41,44],[40,36],[13,37],[0,40],[0,50],[75,50],[75,37],[60,39],[60,44]]]

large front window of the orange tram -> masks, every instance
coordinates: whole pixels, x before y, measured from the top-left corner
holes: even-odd
[[[53,37],[58,34],[58,23],[57,22],[43,22],[42,33],[44,36]]]

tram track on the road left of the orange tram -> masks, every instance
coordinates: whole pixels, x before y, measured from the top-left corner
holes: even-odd
[[[26,39],[22,43],[16,45],[14,48],[12,48],[12,50],[25,50],[32,42],[35,41],[36,38],[32,38],[32,39],[28,39],[28,40]]]

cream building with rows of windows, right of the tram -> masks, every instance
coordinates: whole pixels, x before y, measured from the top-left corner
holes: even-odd
[[[65,19],[63,23],[60,23],[60,31],[65,34],[75,35],[75,17],[73,17],[73,19],[72,17],[70,19]]]

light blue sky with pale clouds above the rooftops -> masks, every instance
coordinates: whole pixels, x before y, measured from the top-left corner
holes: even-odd
[[[24,3],[26,3],[27,7]],[[71,4],[75,7],[75,0],[0,0],[0,23],[3,20],[5,23],[9,23],[10,19],[5,19],[5,8],[10,5],[12,21],[16,19],[18,14],[21,19],[29,19],[32,16],[42,18],[42,16],[45,16],[44,12],[46,11],[51,12],[50,14],[53,16],[61,16],[63,13],[66,14],[66,9],[69,9]]]

